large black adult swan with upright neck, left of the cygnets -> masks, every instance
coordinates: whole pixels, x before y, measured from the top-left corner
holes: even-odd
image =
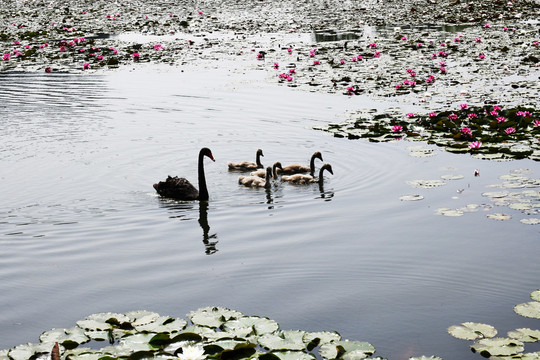
[[[159,195],[177,200],[208,200],[208,189],[206,188],[206,178],[204,177],[203,159],[208,156],[212,161],[216,161],[212,151],[202,148],[199,152],[199,190],[185,178],[168,176],[167,180],[154,184],[154,189]]]

